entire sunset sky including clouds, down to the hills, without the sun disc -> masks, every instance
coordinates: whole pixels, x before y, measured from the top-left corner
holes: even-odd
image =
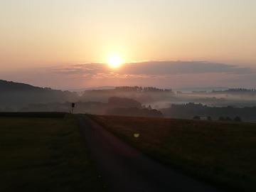
[[[256,88],[255,34],[255,0],[0,0],[0,79]]]

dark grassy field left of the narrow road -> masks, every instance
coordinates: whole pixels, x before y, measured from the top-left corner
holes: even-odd
[[[0,117],[0,151],[0,191],[102,191],[72,117]]]

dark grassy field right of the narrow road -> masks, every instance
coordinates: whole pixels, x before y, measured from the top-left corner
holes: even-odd
[[[256,191],[256,124],[91,117],[145,154],[186,174],[230,191]]]

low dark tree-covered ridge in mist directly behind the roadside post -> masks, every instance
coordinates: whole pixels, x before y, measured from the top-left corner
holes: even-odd
[[[21,112],[69,112],[70,107],[70,102],[30,104],[22,107]],[[108,102],[76,102],[74,112],[138,117],[163,117],[161,112],[144,108],[140,102],[125,97],[110,97]]]

